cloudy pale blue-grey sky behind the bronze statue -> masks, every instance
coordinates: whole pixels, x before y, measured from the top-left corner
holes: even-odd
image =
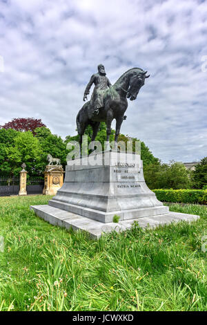
[[[0,56],[0,124],[41,118],[75,135],[97,64],[112,83],[138,66],[150,78],[121,133],[164,162],[207,156],[206,1],[0,0]]]

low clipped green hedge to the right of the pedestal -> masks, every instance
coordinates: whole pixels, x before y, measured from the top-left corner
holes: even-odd
[[[207,204],[206,189],[152,189],[162,202]]]

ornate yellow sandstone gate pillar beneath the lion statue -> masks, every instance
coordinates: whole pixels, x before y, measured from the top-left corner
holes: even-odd
[[[45,184],[43,188],[43,194],[46,195],[55,195],[57,194],[57,190],[61,188],[63,185],[63,167],[61,165],[46,166],[46,170],[44,171],[45,175]]]

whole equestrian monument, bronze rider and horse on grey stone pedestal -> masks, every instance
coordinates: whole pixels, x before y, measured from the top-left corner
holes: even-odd
[[[99,238],[103,232],[131,228],[135,221],[141,227],[155,227],[172,221],[199,218],[169,212],[168,207],[158,201],[155,193],[147,187],[140,155],[117,151],[121,123],[126,119],[127,98],[137,98],[141,86],[149,77],[146,73],[141,68],[132,68],[112,86],[103,64],[98,66],[98,73],[90,78],[83,96],[83,100],[86,100],[94,83],[92,100],[86,102],[77,115],[77,131],[81,146],[88,124],[93,130],[93,141],[100,122],[106,122],[106,150],[69,160],[63,186],[55,197],[48,205],[31,207],[38,216],[53,225],[86,230],[95,238]],[[109,144],[113,119],[116,120],[115,150],[110,149]]]

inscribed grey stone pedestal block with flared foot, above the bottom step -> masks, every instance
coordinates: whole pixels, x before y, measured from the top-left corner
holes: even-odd
[[[168,212],[148,189],[140,156],[116,151],[70,161],[63,186],[48,204],[103,223],[115,214],[122,221]]]

